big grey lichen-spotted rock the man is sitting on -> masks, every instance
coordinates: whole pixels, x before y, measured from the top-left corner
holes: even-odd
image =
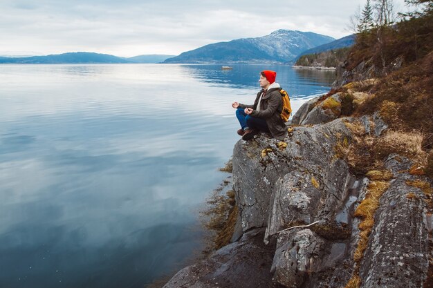
[[[233,187],[242,231],[268,226],[270,236],[293,216],[306,223],[316,216],[330,220],[351,181],[347,164],[335,157],[335,144],[344,141],[350,142],[350,132],[342,119],[294,127],[286,147],[264,135],[240,140],[233,151]],[[320,209],[307,211],[320,201]]]

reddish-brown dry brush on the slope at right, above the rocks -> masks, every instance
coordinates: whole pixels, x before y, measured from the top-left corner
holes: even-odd
[[[423,149],[433,148],[433,52],[380,79],[355,115],[380,111],[394,131],[419,131]]]

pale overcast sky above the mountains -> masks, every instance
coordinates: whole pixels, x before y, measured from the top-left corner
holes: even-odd
[[[334,38],[366,0],[0,0],[0,55],[178,55],[277,29]],[[402,10],[403,0],[394,0]]]

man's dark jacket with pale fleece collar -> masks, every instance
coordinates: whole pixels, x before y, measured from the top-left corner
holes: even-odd
[[[269,86],[268,90],[266,90],[266,94],[261,98],[260,111],[256,111],[257,103],[259,102],[261,93],[265,92],[264,89],[261,89],[259,93],[257,93],[254,105],[239,104],[239,107],[254,109],[251,116],[265,119],[270,134],[278,140],[283,140],[287,135],[287,127],[280,117],[283,108],[282,96],[279,93],[280,89],[277,83],[273,83]]]

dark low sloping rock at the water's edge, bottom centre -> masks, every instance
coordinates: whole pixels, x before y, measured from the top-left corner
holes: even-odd
[[[254,229],[206,260],[178,271],[163,288],[282,288],[272,281],[275,245],[263,243],[264,229]]]

